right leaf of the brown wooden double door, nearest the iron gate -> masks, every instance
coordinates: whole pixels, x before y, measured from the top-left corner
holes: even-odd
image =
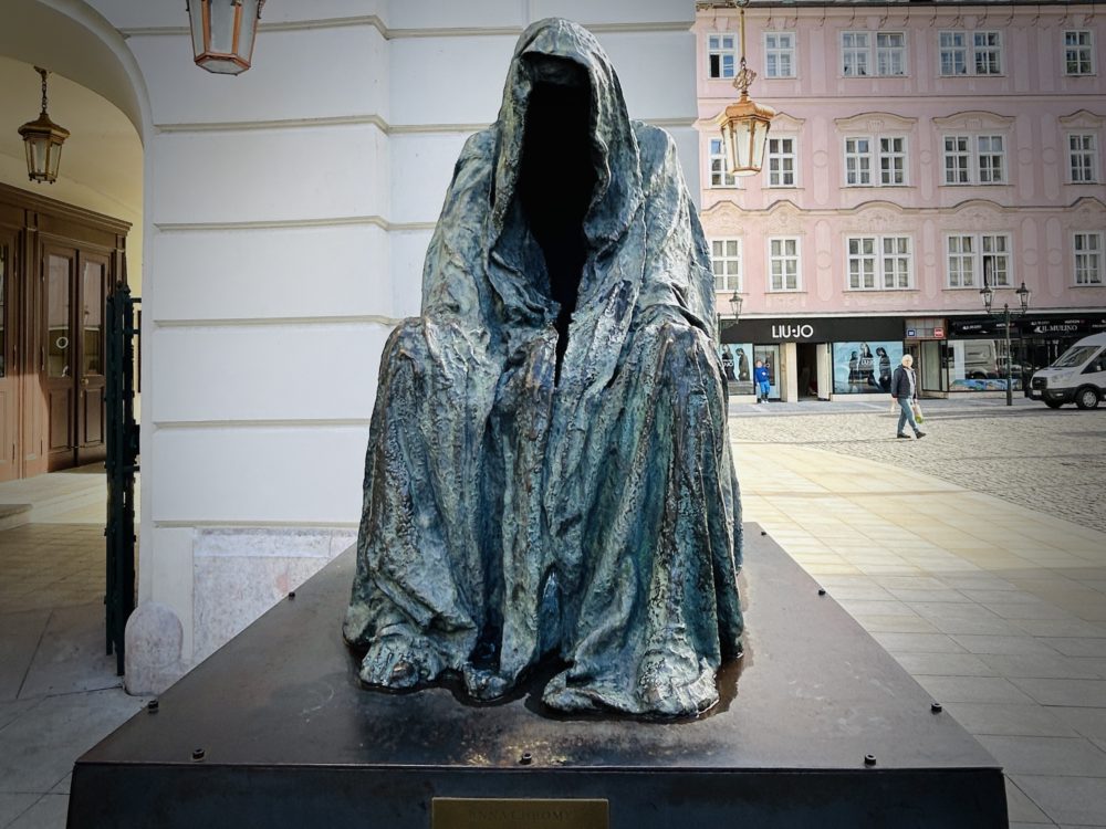
[[[104,314],[108,286],[108,258],[79,251],[76,284],[76,462],[92,463],[107,457],[104,443]]]

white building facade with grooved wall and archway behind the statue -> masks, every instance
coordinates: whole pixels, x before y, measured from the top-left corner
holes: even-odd
[[[453,162],[494,120],[526,25],[589,28],[630,115],[674,134],[692,181],[698,169],[685,0],[269,0],[237,77],[192,65],[184,0],[12,0],[0,15],[0,70],[45,65],[92,91],[133,126],[129,162],[140,154],[126,203],[67,156],[51,193],[133,225],[135,692],[164,688],[353,542],[380,349],[419,313]],[[29,188],[19,151],[0,146],[0,181]]]

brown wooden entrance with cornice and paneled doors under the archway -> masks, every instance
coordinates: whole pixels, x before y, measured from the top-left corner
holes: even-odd
[[[0,185],[0,480],[106,457],[105,303],[128,230]]]

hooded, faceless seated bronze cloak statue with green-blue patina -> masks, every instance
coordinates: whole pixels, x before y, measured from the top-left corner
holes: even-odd
[[[531,25],[461,151],[422,316],[392,335],[344,633],[368,685],[680,716],[740,653],[713,279],[672,139],[609,60]]]

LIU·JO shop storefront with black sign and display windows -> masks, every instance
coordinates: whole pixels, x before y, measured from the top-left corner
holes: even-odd
[[[752,395],[757,360],[769,369],[775,400],[886,395],[902,358],[904,318],[751,318],[723,333],[722,365],[731,395]]]

